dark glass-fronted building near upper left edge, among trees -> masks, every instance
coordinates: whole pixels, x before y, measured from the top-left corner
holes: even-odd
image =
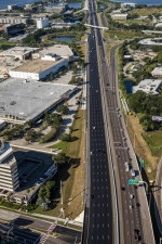
[[[24,34],[25,25],[21,24],[6,24],[4,25],[4,33],[9,36],[14,36],[16,34]]]

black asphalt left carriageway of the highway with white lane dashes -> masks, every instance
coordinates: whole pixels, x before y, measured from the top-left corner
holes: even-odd
[[[89,4],[90,24],[94,10]],[[112,206],[102,111],[95,30],[89,36],[87,67],[87,189],[83,244],[112,244]]]

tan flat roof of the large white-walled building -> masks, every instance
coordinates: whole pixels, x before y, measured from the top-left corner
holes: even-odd
[[[27,64],[24,64],[19,67],[14,68],[13,72],[40,74],[41,72],[58,64],[60,61],[63,61],[63,59],[57,61],[46,61],[46,60],[37,59],[31,62],[28,62]]]

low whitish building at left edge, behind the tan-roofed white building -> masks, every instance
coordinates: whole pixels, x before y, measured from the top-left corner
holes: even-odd
[[[31,53],[38,51],[39,48],[29,47],[14,47],[5,51],[0,52],[0,56],[14,56],[19,60],[27,60],[30,57]]]

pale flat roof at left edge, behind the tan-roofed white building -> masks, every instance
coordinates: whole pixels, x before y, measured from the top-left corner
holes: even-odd
[[[25,55],[27,53],[38,51],[39,48],[29,48],[29,47],[14,47],[5,51],[0,52],[0,55]]]

